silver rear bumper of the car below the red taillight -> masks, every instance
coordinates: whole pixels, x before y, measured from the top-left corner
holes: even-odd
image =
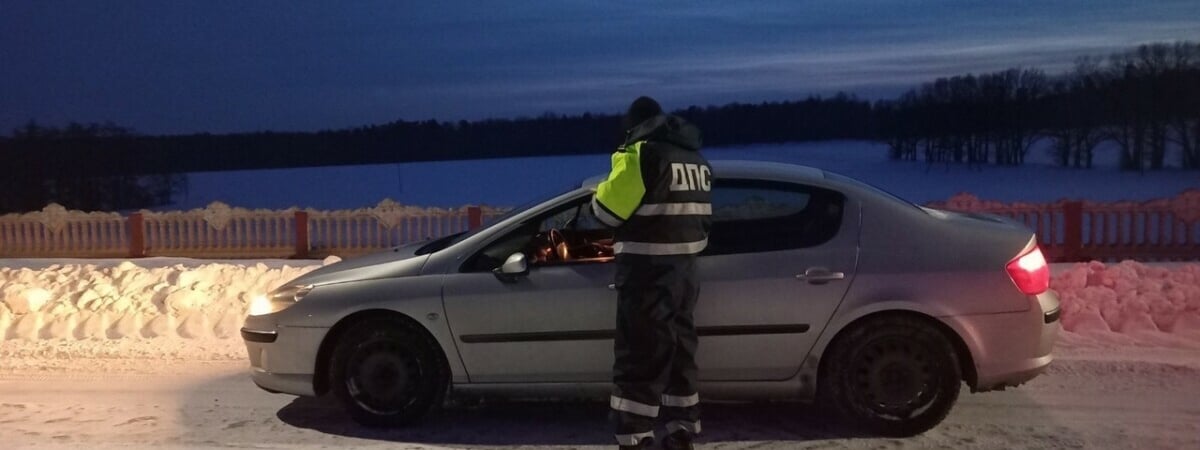
[[[1045,371],[1054,360],[1061,325],[1058,295],[1048,290],[1022,312],[943,318],[964,337],[974,361],[972,391],[1016,386]]]

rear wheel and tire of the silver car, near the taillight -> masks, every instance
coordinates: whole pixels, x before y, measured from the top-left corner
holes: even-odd
[[[962,372],[947,336],[925,320],[870,319],[839,336],[822,356],[818,395],[851,425],[908,437],[941,424],[959,397]]]

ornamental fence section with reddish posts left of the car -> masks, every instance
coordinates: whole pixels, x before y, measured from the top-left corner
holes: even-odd
[[[319,258],[354,256],[480,227],[505,210],[416,208],[390,199],[358,210],[42,211],[0,216],[0,257]]]

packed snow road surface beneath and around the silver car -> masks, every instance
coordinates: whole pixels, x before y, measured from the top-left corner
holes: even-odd
[[[1198,354],[1068,348],[1019,389],[964,392],[942,425],[908,439],[857,434],[816,407],[708,404],[701,448],[1195,449]],[[258,390],[241,361],[145,360],[126,373],[113,361],[72,362],[65,372],[0,374],[0,446],[558,449],[612,439],[600,402],[452,404],[418,427],[379,431],[350,422],[329,398]]]

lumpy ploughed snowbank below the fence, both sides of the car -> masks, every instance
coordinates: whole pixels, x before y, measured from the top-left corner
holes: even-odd
[[[320,264],[0,262],[0,368],[72,358],[241,359],[239,329],[251,299]],[[1066,346],[1200,348],[1200,264],[1055,269]]]

